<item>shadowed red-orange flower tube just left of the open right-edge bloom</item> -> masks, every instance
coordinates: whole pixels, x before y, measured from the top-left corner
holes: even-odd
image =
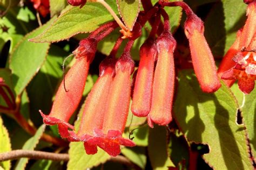
[[[218,68],[218,75],[221,77],[224,72],[231,69],[235,66],[235,62],[232,60],[234,55],[239,51],[239,42],[240,42],[241,30],[237,32],[237,39],[235,39],[233,45],[228,49],[225,54],[223,60],[220,62],[220,66]],[[225,80],[224,81],[228,87],[231,87],[234,83],[234,80]]]

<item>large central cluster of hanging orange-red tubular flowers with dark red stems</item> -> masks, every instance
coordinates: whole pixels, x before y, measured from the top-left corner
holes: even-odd
[[[85,1],[69,1],[72,5],[84,5]],[[168,125],[172,121],[175,67],[174,50],[177,42],[170,32],[169,16],[164,6],[181,6],[187,15],[185,34],[190,44],[193,67],[200,87],[206,93],[220,88],[214,60],[204,37],[204,25],[184,2],[159,2],[151,10],[140,13],[131,32],[123,29],[111,54],[99,66],[99,77],[87,96],[79,129],[69,124],[69,119],[78,107],[85,87],[86,76],[97,43],[117,27],[116,22],[106,23],[79,42],[73,52],[76,63],[57,91],[49,115],[40,110],[43,121],[58,125],[60,136],[69,141],[83,141],[87,154],[97,153],[97,147],[108,154],[120,153],[120,145],[135,146],[130,139],[122,137],[130,107],[135,116],[147,117],[151,128],[154,124]],[[161,16],[164,23],[161,23]],[[146,19],[142,19],[146,18]],[[142,26],[153,21],[149,38],[140,47],[140,62],[137,74],[130,51],[135,39],[141,36]],[[160,27],[162,25],[163,27]],[[127,36],[129,35],[129,36]],[[129,38],[123,54],[116,60],[116,53],[123,41]],[[200,47],[200,50],[198,50]],[[132,88],[131,75],[134,75]]]

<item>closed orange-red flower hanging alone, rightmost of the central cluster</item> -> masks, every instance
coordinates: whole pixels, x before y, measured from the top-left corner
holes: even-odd
[[[206,93],[217,91],[221,84],[210,47],[204,37],[204,25],[194,13],[187,16],[185,34],[190,44],[194,72],[201,89]]]

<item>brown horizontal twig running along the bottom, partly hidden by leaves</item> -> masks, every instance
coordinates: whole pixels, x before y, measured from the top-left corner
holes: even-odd
[[[19,158],[30,158],[30,159],[48,159],[54,161],[69,161],[68,153],[51,153],[43,151],[31,151],[31,150],[14,150],[10,152],[0,153],[0,162],[6,160],[14,160]],[[141,169],[136,164],[133,164],[129,159],[122,155],[117,157],[111,157],[109,161],[118,162],[136,169]]]

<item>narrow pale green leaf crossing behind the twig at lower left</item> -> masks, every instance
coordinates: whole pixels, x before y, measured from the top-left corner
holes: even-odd
[[[39,142],[39,139],[41,138],[43,132],[45,129],[45,124],[41,125],[36,134],[31,137],[26,143],[23,145],[22,149],[23,150],[34,150],[36,145]],[[20,169],[25,169],[26,164],[28,163],[29,159],[28,158],[21,158],[17,161],[15,169],[20,170]]]

